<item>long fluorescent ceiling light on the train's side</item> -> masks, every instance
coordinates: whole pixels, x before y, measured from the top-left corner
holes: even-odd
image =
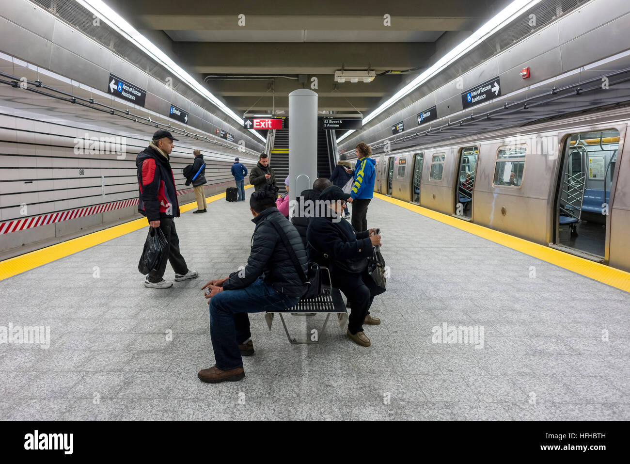
[[[435,64],[433,64],[433,66],[422,72],[420,76],[417,76],[415,79],[413,79],[413,81],[411,81],[406,86],[401,88],[401,90],[392,95],[391,98],[388,98],[380,107],[376,108],[373,112],[367,115],[363,120],[363,124],[365,125],[370,122],[372,119],[384,112],[387,108],[394,105],[396,101],[400,100],[405,95],[408,95],[408,93],[410,93],[411,91],[420,87],[422,84],[427,82],[428,79],[432,78],[433,76],[438,74],[438,72],[442,71],[445,67],[457,61],[459,58],[462,57],[462,55],[474,49],[474,47],[481,44],[481,42],[486,40],[486,38],[500,31],[503,27],[518,18],[518,16],[522,15],[525,11],[540,2],[541,0],[513,0],[512,3],[502,9],[490,21],[488,21],[478,30],[473,32],[470,37],[466,38],[466,40],[464,40],[461,44],[450,50],[450,52],[440,58]],[[355,132],[355,129],[352,129],[343,134],[343,136],[339,137],[336,142],[339,143],[350,134],[352,134],[352,132]]]

